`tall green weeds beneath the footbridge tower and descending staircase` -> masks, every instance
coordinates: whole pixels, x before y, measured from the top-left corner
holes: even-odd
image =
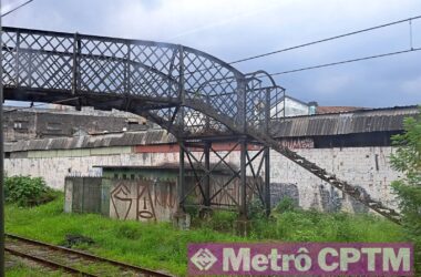
[[[401,227],[384,218],[370,214],[320,213],[294,206],[290,199],[280,202],[269,218],[255,208],[250,219],[250,240],[283,242],[400,242]],[[237,215],[216,212],[212,219],[195,220],[196,228],[217,229],[232,233]]]

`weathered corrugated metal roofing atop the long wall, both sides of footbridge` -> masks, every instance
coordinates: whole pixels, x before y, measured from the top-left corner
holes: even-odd
[[[337,114],[286,117],[273,122],[275,137],[321,136],[351,133],[402,131],[404,117],[418,114],[417,106],[362,110]],[[7,143],[6,152],[72,150],[175,143],[165,130],[147,130],[102,135],[57,137]]]

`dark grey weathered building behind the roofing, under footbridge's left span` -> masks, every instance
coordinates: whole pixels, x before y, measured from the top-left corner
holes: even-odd
[[[34,109],[4,106],[4,141],[78,136],[97,133],[143,131],[151,125],[145,119],[121,111],[92,107]]]

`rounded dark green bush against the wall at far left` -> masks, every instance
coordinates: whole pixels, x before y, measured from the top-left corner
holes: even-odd
[[[12,176],[4,178],[4,199],[18,206],[37,206],[53,201],[57,194],[41,177]]]

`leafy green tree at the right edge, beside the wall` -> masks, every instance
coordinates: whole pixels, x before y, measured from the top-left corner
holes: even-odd
[[[392,187],[399,197],[404,230],[415,245],[415,268],[421,273],[421,114],[404,119],[403,126],[403,134],[392,136],[396,152],[391,165],[404,177],[392,182]]]

